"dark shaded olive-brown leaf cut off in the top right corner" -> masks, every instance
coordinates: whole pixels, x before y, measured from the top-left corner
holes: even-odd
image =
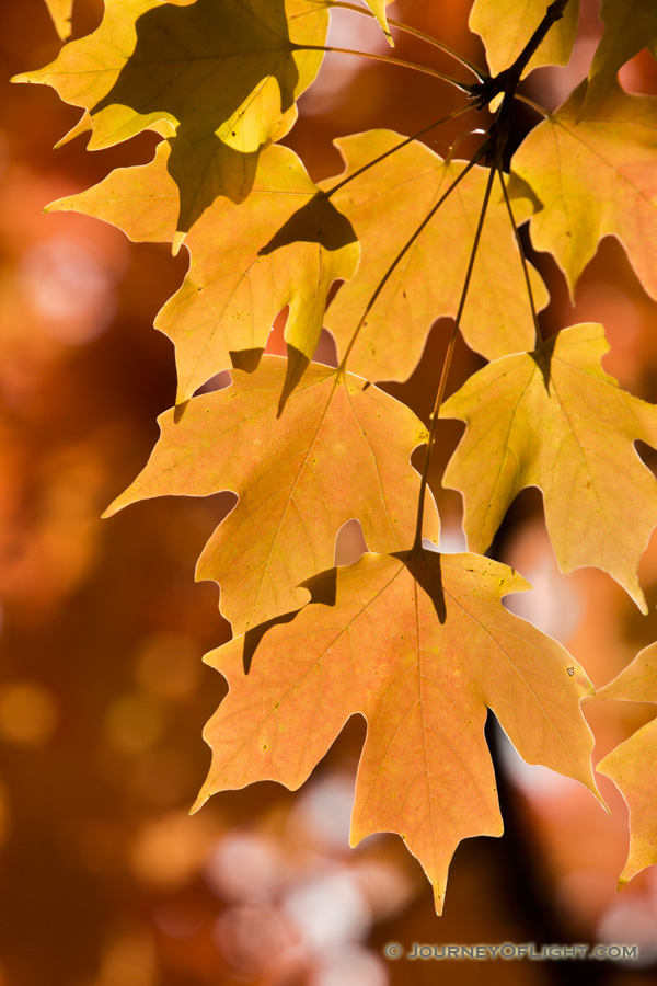
[[[657,4],[645,0],[602,0],[600,18],[604,34],[596,49],[589,71],[584,112],[597,102],[616,73],[642,48],[657,54]]]

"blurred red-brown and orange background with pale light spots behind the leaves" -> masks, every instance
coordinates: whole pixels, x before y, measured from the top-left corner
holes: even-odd
[[[484,65],[466,31],[469,0],[399,0],[391,15]],[[73,36],[100,22],[100,0],[76,0]],[[601,25],[584,0],[569,66],[541,69],[525,91],[554,107],[586,74]],[[385,51],[369,19],[334,12],[330,43]],[[88,153],[51,148],[79,113],[45,87],[8,79],[51,60],[59,42],[43,0],[0,5],[0,986],[385,986],[449,974],[479,983],[488,964],[388,961],[385,942],[638,944],[634,962],[504,963],[510,984],[648,984],[657,971],[657,872],[616,894],[627,852],[623,801],[606,778],[607,815],[574,782],[529,768],[491,716],[506,833],[463,842],[436,918],[419,864],[397,837],[348,848],[354,777],[365,735],[349,721],[297,793],[273,783],[218,795],[188,817],[209,766],[201,729],[224,685],[201,655],[227,640],[217,587],[194,582],[205,540],[230,507],[150,501],[101,521],[146,461],[155,417],[174,401],[169,340],[153,318],[177,288],[185,251],[128,243],[116,229],[44,206],[146,162],[154,135]],[[395,55],[457,73],[400,38]],[[624,85],[657,94],[643,53]],[[342,170],[332,138],[374,126],[412,134],[457,94],[399,68],[328,55],[302,98],[288,142],[319,180]],[[485,126],[476,114],[468,126]],[[520,108],[519,141],[535,117]],[[429,135],[438,152],[458,130]],[[468,141],[459,154],[468,152]],[[533,257],[552,293],[548,333],[601,321],[606,368],[657,401],[657,306],[614,240],[602,243],[573,308],[554,262]],[[391,393],[427,420],[449,333],[437,322],[423,360]],[[270,347],[280,351],[280,325]],[[331,358],[330,340],[323,358]],[[460,346],[450,390],[481,365]],[[443,550],[461,550],[461,501],[440,490],[461,425],[446,423],[433,485]],[[639,448],[654,467],[656,454]],[[351,524],[338,560],[358,553]],[[534,586],[509,606],[566,644],[596,685],[657,639],[657,542],[642,563],[642,617],[596,570],[565,577],[546,539],[541,500],[526,491],[494,544]],[[587,706],[596,760],[655,714],[630,702]]]

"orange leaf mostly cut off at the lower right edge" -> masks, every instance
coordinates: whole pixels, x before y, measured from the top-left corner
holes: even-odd
[[[644,647],[596,699],[657,702],[657,644]],[[612,749],[597,770],[610,777],[630,809],[630,852],[619,890],[646,867],[657,863],[657,719]]]

